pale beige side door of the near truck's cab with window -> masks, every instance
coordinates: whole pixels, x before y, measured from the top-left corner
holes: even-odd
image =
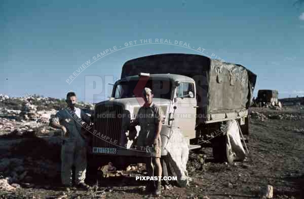
[[[195,84],[193,82],[180,82],[175,90],[174,126],[182,129],[187,139],[195,138],[196,106]]]

